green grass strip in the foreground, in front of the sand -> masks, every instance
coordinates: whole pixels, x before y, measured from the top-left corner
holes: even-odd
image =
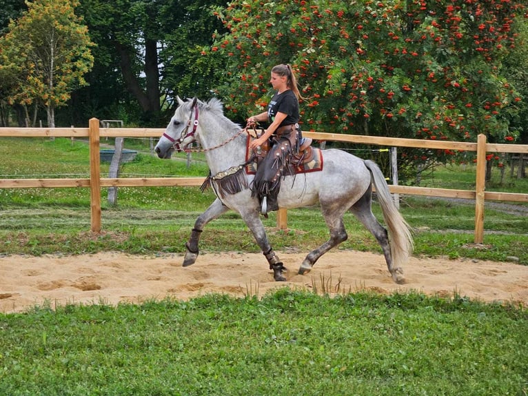
[[[2,395],[526,395],[528,315],[280,289],[0,315]]]

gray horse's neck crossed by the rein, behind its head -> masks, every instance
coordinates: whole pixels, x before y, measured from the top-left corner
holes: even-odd
[[[207,150],[205,158],[213,175],[245,162],[245,144],[243,143],[245,133],[229,141],[240,130],[236,130],[235,124],[227,129],[215,127],[212,124],[206,128],[207,133],[204,134],[201,143]]]

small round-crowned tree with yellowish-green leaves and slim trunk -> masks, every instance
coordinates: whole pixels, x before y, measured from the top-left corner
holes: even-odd
[[[0,39],[0,64],[14,70],[16,83],[10,101],[43,103],[48,126],[54,128],[54,109],[64,106],[72,90],[85,85],[93,64],[92,42],[82,19],[74,14],[77,0],[28,2],[28,11],[9,24]]]

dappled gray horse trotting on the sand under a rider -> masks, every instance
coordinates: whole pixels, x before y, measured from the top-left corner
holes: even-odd
[[[285,267],[267,240],[258,199],[251,195],[254,175],[247,175],[244,169],[247,161],[245,130],[223,115],[219,99],[211,99],[207,103],[196,98],[187,101],[178,98],[178,101],[179,107],[156,144],[156,153],[160,158],[170,158],[174,150],[184,150],[192,142],[199,141],[210,168],[207,181],[216,193],[214,202],[194,223],[186,244],[183,266],[190,266],[196,261],[199,236],[205,225],[232,209],[241,215],[253,232],[256,243],[274,271],[274,279],[285,281]],[[372,184],[376,187],[388,232],[372,214]],[[376,237],[392,279],[396,283],[405,281],[402,265],[411,253],[412,236],[392,201],[385,177],[373,161],[341,150],[323,150],[323,170],[285,177],[278,194],[280,208],[315,204],[321,206],[330,238],[308,253],[298,273],[307,273],[319,257],[347,239],[343,215],[350,210]]]

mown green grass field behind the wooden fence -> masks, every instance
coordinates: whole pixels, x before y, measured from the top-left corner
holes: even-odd
[[[149,155],[148,140],[134,142],[139,155],[121,168],[123,177],[145,175],[207,175],[203,155],[192,155],[187,168],[185,153],[167,161]],[[0,140],[1,177],[70,177],[86,173],[88,145],[70,139],[3,138]],[[104,141],[103,141],[104,143]],[[111,143],[111,141],[109,141]],[[31,153],[29,155],[28,153]],[[102,165],[103,173],[108,164]],[[498,170],[495,174],[498,177]],[[509,172],[506,172],[509,175]],[[40,176],[39,176],[40,177]],[[44,177],[44,176],[42,176]],[[471,188],[471,166],[438,168],[434,178],[423,184],[434,187]],[[497,183],[492,178],[491,183]],[[512,187],[513,186],[513,187]],[[503,188],[528,191],[528,179],[505,179]],[[488,190],[492,190],[490,187]],[[214,200],[211,190],[202,194],[195,187],[119,188],[118,206],[103,203],[101,235],[90,235],[90,192],[88,188],[0,189],[0,254],[23,253],[97,253],[119,250],[134,254],[159,252],[181,253],[185,249],[194,220]],[[511,203],[510,203],[511,204]],[[526,205],[513,205],[526,208]],[[381,219],[380,210],[373,210]],[[474,205],[471,201],[449,201],[425,197],[403,197],[401,212],[414,229],[415,255],[425,257],[469,257],[506,261],[517,257],[528,264],[528,216],[488,203],[485,206],[485,244],[473,246]],[[276,250],[308,251],[328,238],[328,231],[318,208],[289,210],[290,230],[276,230],[275,215],[264,220],[272,246]],[[374,237],[354,219],[345,216],[349,239],[341,249],[371,250],[380,248]],[[201,236],[203,251],[258,251],[250,231],[234,212],[209,224]]]

